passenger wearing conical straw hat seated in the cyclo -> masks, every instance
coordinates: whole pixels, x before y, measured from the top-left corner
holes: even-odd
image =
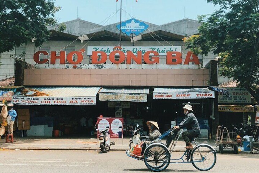
[[[147,122],[147,125],[148,125],[149,134],[148,134],[148,136],[146,137],[146,139],[141,142],[141,147],[142,147],[141,156],[143,156],[146,147],[147,147],[152,141],[154,141],[155,139],[157,139],[158,137],[161,136],[161,133],[160,133],[160,131],[159,131],[159,127],[158,127],[157,122],[155,122],[155,121],[148,121],[148,122]]]

